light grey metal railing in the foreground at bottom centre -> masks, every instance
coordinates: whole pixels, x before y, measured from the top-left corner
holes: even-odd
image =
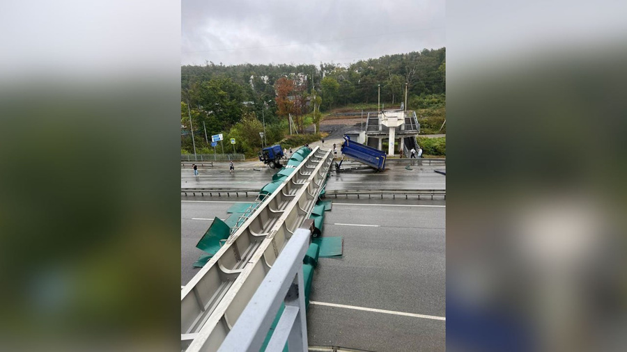
[[[286,342],[289,351],[307,351],[302,259],[310,235],[310,230],[302,228],[294,232],[218,351],[259,351],[281,303],[285,309],[265,351],[283,351]]]

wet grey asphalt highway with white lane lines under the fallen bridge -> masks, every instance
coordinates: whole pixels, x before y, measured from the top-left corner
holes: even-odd
[[[326,145],[327,143],[325,143]],[[253,170],[254,168],[260,171]],[[445,189],[445,166],[392,166],[384,173],[332,173],[327,189]],[[277,170],[255,162],[181,170],[181,186],[261,188]],[[195,183],[198,184],[195,184]],[[444,351],[446,202],[330,198],[323,236],[343,237],[343,257],[320,258],[307,312],[310,345],[367,351]],[[195,248],[212,218],[254,198],[181,198],[181,285],[198,271]]]

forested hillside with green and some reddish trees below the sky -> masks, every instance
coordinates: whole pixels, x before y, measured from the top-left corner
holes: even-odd
[[[350,65],[225,66],[208,62],[183,66],[182,152],[192,152],[191,136],[187,134],[189,115],[197,152],[208,147],[203,131],[206,128],[208,136],[222,133],[224,138],[238,138],[236,150],[251,154],[261,147],[258,132],[263,131],[264,120],[268,144],[277,143],[289,131],[288,115],[302,132],[332,109],[351,104],[376,106],[378,88],[382,104],[400,106],[405,83],[408,109],[419,113],[427,133],[435,133],[445,118],[445,54],[445,48],[424,49]]]

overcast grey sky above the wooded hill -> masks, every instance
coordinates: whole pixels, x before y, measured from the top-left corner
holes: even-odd
[[[351,63],[445,46],[444,0],[181,2],[181,64]]]

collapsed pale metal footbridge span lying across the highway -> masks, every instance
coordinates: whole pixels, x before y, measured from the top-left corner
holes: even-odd
[[[181,349],[217,351],[296,229],[311,215],[330,170],[314,150],[181,290]]]

